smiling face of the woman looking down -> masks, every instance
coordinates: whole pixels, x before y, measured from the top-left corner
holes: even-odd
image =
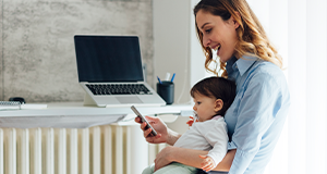
[[[239,24],[231,16],[223,21],[218,15],[199,10],[196,14],[197,28],[203,34],[203,46],[217,50],[221,62],[227,62],[233,54],[238,42]]]

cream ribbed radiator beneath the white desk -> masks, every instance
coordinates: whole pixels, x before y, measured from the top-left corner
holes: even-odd
[[[165,146],[134,125],[0,128],[0,174],[138,174]]]

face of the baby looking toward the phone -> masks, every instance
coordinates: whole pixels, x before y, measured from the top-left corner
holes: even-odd
[[[193,110],[197,113],[199,122],[210,120],[213,119],[214,115],[216,115],[215,112],[216,99],[195,92],[193,101],[194,101]]]

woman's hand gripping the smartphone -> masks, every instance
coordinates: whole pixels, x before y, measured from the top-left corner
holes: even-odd
[[[142,123],[140,117],[135,117],[135,122],[141,124],[141,129],[143,130],[143,136],[146,141],[150,144],[161,144],[167,142],[168,139],[168,128],[167,125],[161,121],[160,117],[145,116],[147,122],[154,127],[158,133],[157,136],[153,136],[152,128],[146,129],[146,122]]]

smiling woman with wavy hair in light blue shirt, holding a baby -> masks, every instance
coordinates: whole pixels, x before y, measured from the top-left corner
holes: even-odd
[[[202,0],[194,15],[205,67],[217,74],[208,67],[216,62],[213,50],[217,51],[221,76],[237,84],[237,97],[225,115],[229,152],[214,171],[264,173],[290,105],[282,59],[245,0]],[[148,142],[173,145],[181,136],[159,119],[147,119],[159,133],[150,137],[150,129],[141,124]],[[155,170],[171,162],[201,167],[198,154],[206,156],[207,151],[167,147],[158,153]]]

